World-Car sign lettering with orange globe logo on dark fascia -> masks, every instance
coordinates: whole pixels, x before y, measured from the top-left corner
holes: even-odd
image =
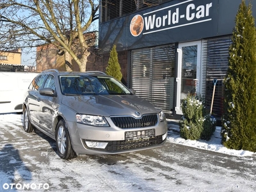
[[[146,35],[148,33],[156,33],[158,31],[210,21],[212,19],[212,3],[196,5],[191,3],[192,1],[188,0],[173,4],[172,6],[144,13],[143,16],[134,16],[130,29],[131,33],[132,30],[137,29],[137,33],[133,32],[132,35],[138,36],[141,33]]]

